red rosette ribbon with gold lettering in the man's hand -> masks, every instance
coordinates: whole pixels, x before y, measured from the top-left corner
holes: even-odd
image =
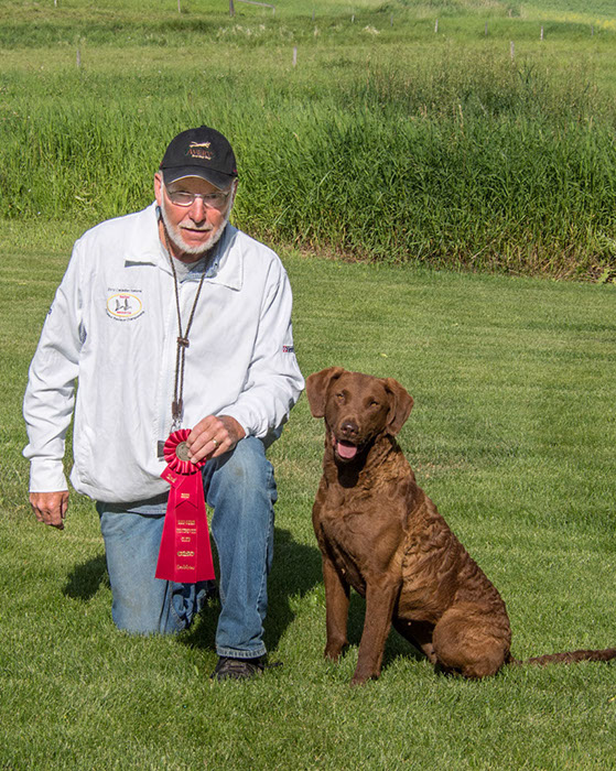
[[[199,473],[205,460],[188,460],[188,428],[175,431],[164,443],[166,468],[161,477],[171,485],[164,518],[156,578],[195,584],[214,578],[214,562]]]

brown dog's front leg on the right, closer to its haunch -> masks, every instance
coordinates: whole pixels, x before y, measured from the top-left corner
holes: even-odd
[[[399,590],[400,585],[391,584],[391,580],[368,582],[366,619],[352,685],[360,685],[380,675],[385,643],[391,628],[393,606]]]

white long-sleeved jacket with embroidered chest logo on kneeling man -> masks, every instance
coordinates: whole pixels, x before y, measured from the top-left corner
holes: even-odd
[[[198,279],[180,284],[184,328]],[[304,384],[291,306],[279,258],[228,225],[191,329],[183,427],[226,414],[247,435],[275,438]],[[166,491],[158,443],[171,430],[176,339],[173,274],[155,205],[88,230],[75,243],[30,367],[23,454],[31,491],[66,489],[73,412],[71,481],[78,492],[125,502]]]

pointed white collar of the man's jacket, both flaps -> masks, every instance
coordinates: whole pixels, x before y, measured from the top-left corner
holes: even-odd
[[[136,227],[132,228],[131,236],[127,239],[126,265],[152,264],[165,273],[171,273],[166,251],[159,238],[155,202],[134,216],[137,217]],[[205,276],[206,281],[223,284],[236,291],[241,289],[244,284],[244,252],[239,241],[237,228],[227,225],[216,245],[216,253]]]

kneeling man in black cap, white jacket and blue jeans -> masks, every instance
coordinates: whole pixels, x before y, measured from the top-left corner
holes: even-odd
[[[71,481],[97,502],[114,621],[131,632],[185,629],[210,588],[154,577],[170,489],[162,448],[191,430],[220,567],[218,680],[266,665],[277,493],[264,450],[303,388],[289,280],[270,249],[228,224],[236,189],[223,134],[175,137],[155,203],[75,243],[24,398],[36,519],[64,528],[74,412]]]

